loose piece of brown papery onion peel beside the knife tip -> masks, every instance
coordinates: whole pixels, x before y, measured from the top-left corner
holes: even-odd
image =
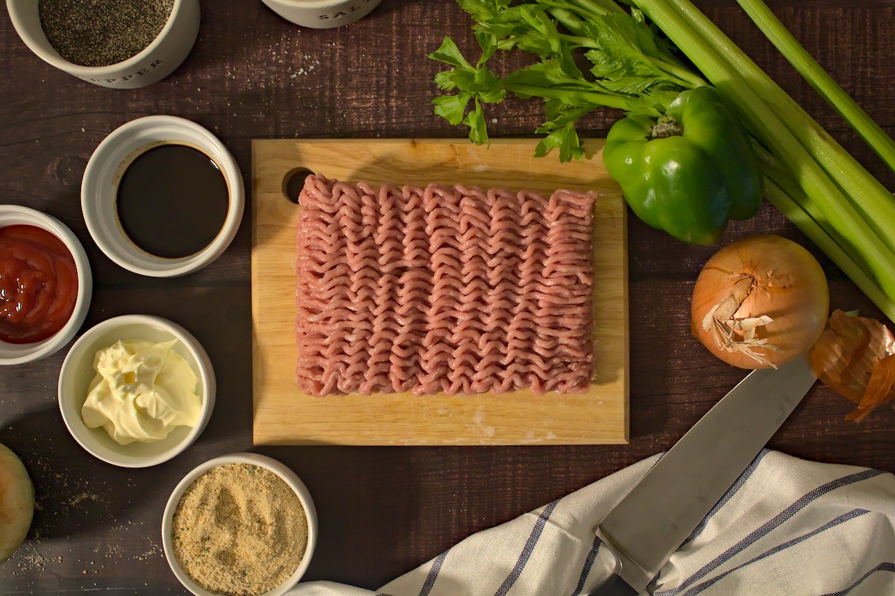
[[[863,421],[895,400],[895,336],[878,320],[834,311],[811,366],[824,385],[857,404],[846,420]]]

